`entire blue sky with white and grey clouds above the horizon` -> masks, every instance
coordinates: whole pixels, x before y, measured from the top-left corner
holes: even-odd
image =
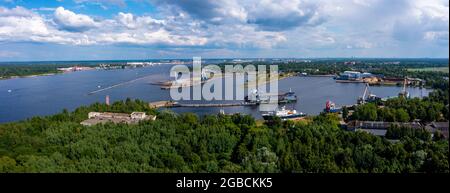
[[[448,0],[0,0],[0,61],[448,58]]]

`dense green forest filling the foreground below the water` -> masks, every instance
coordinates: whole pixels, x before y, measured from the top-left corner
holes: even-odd
[[[82,126],[90,111],[155,121]],[[248,115],[175,114],[140,100],[96,103],[0,125],[0,172],[449,172],[448,140],[392,128],[388,138],[338,127],[335,114],[260,124]]]

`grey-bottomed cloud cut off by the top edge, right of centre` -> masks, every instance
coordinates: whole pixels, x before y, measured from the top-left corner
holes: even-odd
[[[285,31],[323,21],[313,0],[153,0],[210,24],[255,24],[262,30]],[[164,7],[167,9],[166,7]]]

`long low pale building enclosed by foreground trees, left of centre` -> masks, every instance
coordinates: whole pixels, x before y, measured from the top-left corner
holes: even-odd
[[[156,120],[156,116],[147,115],[144,112],[126,113],[110,113],[110,112],[89,112],[88,119],[81,122],[81,125],[92,126],[99,123],[125,123],[136,124],[139,121]]]

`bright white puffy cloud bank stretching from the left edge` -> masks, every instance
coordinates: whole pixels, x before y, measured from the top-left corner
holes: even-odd
[[[164,29],[163,20],[147,16],[120,13],[116,20],[94,21],[62,7],[55,10],[53,20],[22,7],[0,7],[0,41],[168,46],[199,46],[208,42],[204,37],[169,32]]]

